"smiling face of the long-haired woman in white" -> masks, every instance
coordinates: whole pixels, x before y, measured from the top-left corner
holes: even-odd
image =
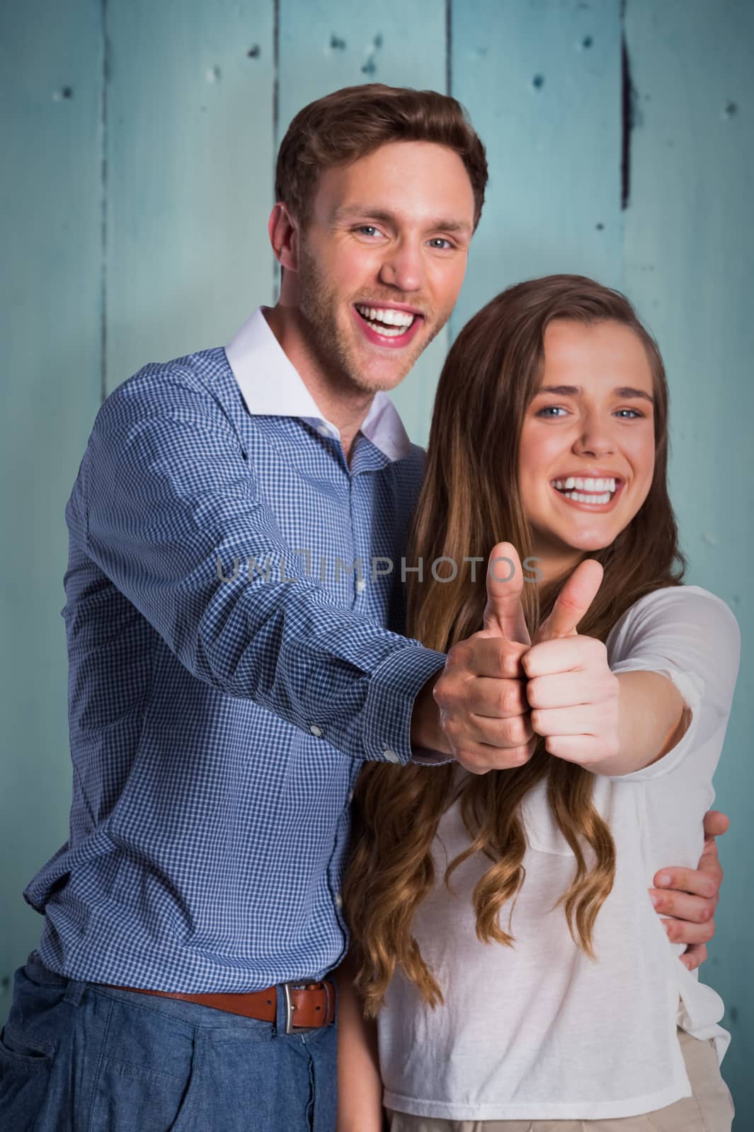
[[[615,321],[550,323],[519,454],[545,581],[617,538],[644,503],[653,471],[652,371],[639,336]]]

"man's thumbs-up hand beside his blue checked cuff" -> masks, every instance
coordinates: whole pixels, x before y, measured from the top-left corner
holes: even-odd
[[[521,668],[530,643],[522,588],[519,555],[509,542],[498,542],[487,571],[485,627],[452,646],[431,689],[440,749],[472,774],[521,766],[534,751]]]

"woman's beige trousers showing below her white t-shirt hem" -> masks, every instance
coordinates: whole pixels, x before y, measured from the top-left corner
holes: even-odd
[[[714,1043],[700,1041],[680,1029],[678,1040],[694,1095],[643,1116],[607,1121],[446,1121],[388,1109],[391,1132],[730,1132],[734,1103],[720,1075]]]

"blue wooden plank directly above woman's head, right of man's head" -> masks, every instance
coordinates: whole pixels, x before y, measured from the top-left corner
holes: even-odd
[[[453,5],[452,88],[490,182],[453,331],[505,286],[554,272],[620,282],[618,0]]]

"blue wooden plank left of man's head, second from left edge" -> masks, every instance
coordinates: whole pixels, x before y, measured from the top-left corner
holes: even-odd
[[[272,297],[272,0],[108,7],[108,389]]]

